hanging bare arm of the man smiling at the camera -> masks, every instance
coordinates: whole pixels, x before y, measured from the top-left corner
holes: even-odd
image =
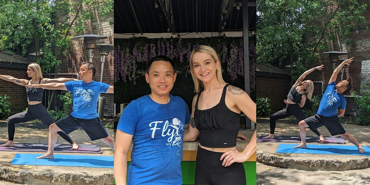
[[[114,178],[116,184],[126,184],[127,176],[127,153],[130,149],[133,135],[117,129],[114,150]]]

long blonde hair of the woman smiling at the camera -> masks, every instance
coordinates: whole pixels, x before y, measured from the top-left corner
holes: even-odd
[[[194,48],[193,51],[191,52],[190,61],[189,61],[190,62],[190,73],[191,73],[191,77],[193,78],[193,82],[194,82],[194,92],[201,92],[204,89],[203,82],[194,76],[193,55],[198,52],[203,52],[203,53],[207,53],[211,55],[215,63],[219,61],[220,65],[218,65],[219,70],[216,71],[216,77],[219,83],[226,84],[226,82],[222,78],[221,61],[218,58],[216,51],[212,47],[205,46],[205,45],[199,45],[196,48]]]

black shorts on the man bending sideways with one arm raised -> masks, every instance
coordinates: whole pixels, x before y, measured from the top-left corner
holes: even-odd
[[[332,135],[346,133],[346,130],[343,128],[342,124],[340,124],[337,116],[325,117],[315,114],[314,116],[306,118],[304,121],[312,130],[325,126]]]

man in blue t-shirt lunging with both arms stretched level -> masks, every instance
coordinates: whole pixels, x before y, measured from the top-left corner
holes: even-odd
[[[84,62],[80,67],[80,81],[69,81],[67,83],[34,84],[30,87],[41,87],[50,90],[67,90],[72,92],[73,111],[67,117],[53,123],[49,127],[49,144],[46,154],[36,159],[53,159],[54,146],[57,142],[57,132],[66,134],[82,128],[91,141],[100,139],[107,143],[112,149],[114,141],[108,135],[104,126],[98,118],[97,104],[100,93],[113,93],[114,87],[105,83],[92,80],[96,68],[91,62]]]

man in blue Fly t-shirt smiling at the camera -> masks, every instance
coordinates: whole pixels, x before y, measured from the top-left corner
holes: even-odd
[[[176,75],[171,58],[157,56],[148,61],[145,80],[151,94],[128,104],[118,122],[114,152],[117,185],[126,184],[126,174],[127,184],[182,184],[182,140],[190,114],[184,100],[169,94]]]

